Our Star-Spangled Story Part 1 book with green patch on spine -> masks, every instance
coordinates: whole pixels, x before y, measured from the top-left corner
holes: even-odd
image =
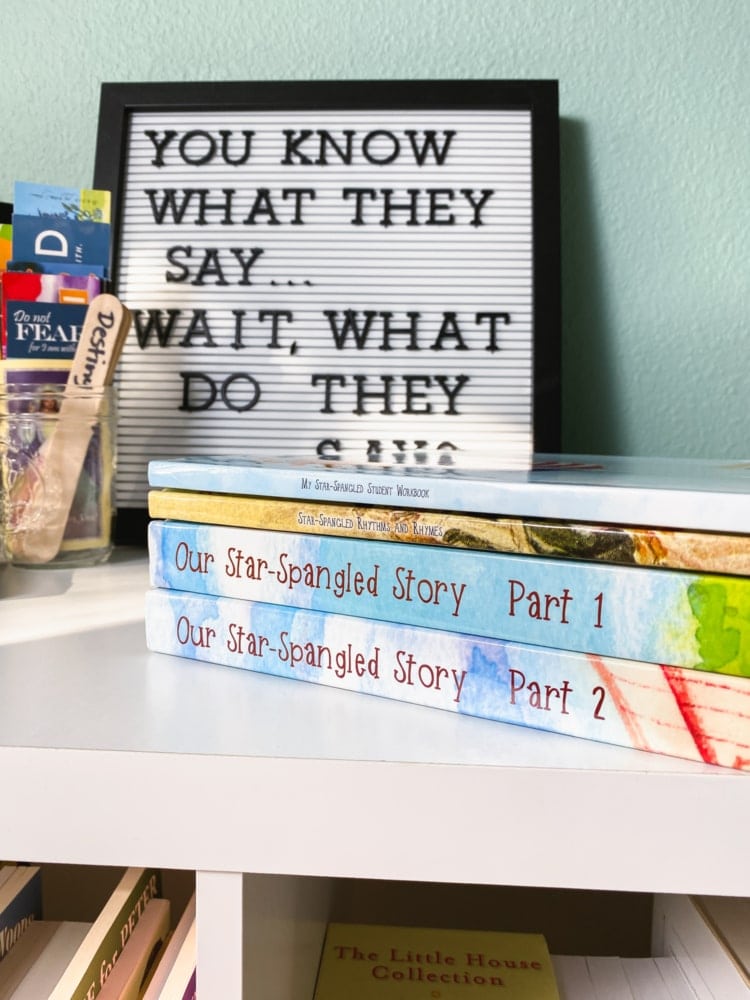
[[[750,578],[152,521],[154,587],[750,676]]]

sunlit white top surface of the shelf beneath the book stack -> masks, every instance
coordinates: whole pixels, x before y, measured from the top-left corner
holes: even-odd
[[[139,550],[0,568],[0,746],[747,777],[153,653],[147,587]]]

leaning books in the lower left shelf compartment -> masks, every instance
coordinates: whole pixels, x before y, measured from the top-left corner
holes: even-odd
[[[195,895],[174,921],[159,872],[127,868],[95,920],[50,920],[42,874],[0,867],[2,1000],[195,1000]]]

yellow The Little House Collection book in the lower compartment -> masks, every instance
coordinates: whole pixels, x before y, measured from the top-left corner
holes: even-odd
[[[559,1000],[541,934],[331,923],[314,1000]]]

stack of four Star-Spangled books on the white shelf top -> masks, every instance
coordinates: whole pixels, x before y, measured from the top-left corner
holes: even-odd
[[[750,462],[149,466],[150,649],[750,768]]]

